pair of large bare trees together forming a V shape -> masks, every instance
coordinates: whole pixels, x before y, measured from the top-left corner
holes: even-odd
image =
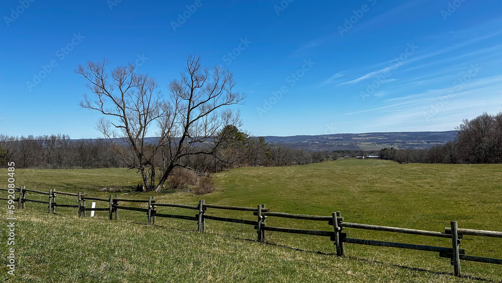
[[[102,118],[98,129],[129,169],[138,169],[145,186],[156,187],[156,192],[162,190],[174,168],[188,168],[191,155],[214,154],[218,143],[206,147],[199,145],[214,138],[226,125],[239,124],[238,112],[224,109],[240,104],[245,97],[233,91],[232,73],[218,66],[212,71],[202,68],[199,57],[188,56],[181,79],[175,79],[169,85],[168,100],[157,91],[157,81],[138,74],[135,65],[117,67],[110,76],[105,71],[107,64],[106,60],[88,62],[75,70],[87,79],[86,86],[97,98],[91,101],[84,96],[80,106],[111,119]],[[158,137],[147,143],[145,138],[151,133],[152,126],[158,127]],[[120,147],[120,141],[124,140],[132,152]],[[197,150],[193,150],[195,146]],[[163,172],[155,186],[155,156],[160,149],[163,149]],[[169,152],[164,152],[166,149]]]

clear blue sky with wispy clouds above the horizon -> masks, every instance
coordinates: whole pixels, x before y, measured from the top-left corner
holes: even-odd
[[[502,111],[501,11],[493,0],[4,0],[0,133],[99,137],[100,116],[78,107],[90,94],[78,64],[138,62],[168,95],[192,53],[233,72],[255,135],[453,130]]]

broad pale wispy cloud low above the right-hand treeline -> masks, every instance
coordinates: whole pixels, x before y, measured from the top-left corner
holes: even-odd
[[[403,98],[388,99],[380,107],[336,115],[336,120],[351,123],[359,132],[375,131],[445,131],[453,130],[462,119],[472,119],[482,112],[502,109],[502,75],[480,78],[455,93],[437,115],[426,119],[431,106],[444,102],[452,87],[430,89]],[[443,98],[443,100],[441,100]],[[342,118],[345,117],[345,118]],[[371,123],[368,123],[368,120]]]

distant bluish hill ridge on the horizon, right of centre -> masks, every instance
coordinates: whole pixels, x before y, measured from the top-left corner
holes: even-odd
[[[457,131],[332,134],[318,136],[266,136],[270,143],[282,143],[306,150],[380,150],[384,147],[424,149],[455,139]]]

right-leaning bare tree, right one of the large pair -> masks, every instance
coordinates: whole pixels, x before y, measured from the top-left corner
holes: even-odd
[[[188,56],[185,71],[180,80],[170,85],[169,116],[160,120],[160,128],[169,147],[166,169],[155,191],[160,192],[164,182],[175,167],[189,167],[191,155],[214,155],[224,139],[214,141],[219,133],[225,136],[228,125],[240,126],[238,112],[228,106],[240,104],[245,95],[235,92],[233,75],[219,66],[212,71],[202,68],[200,57]],[[221,133],[223,131],[223,133]],[[197,150],[193,150],[197,148]]]

